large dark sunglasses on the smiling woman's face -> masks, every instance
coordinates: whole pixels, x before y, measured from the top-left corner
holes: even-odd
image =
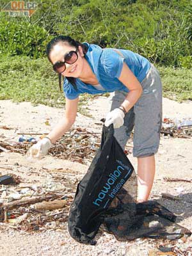
[[[78,49],[76,49],[76,51],[67,52],[67,54],[65,54],[64,56],[64,61],[57,61],[56,63],[54,63],[54,65],[52,65],[53,70],[59,74],[64,72],[66,69],[65,63],[71,65],[77,61],[78,59],[77,51]]]

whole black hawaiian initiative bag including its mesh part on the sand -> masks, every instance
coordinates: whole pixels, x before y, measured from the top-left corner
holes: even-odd
[[[134,168],[113,136],[113,125],[103,127],[100,148],[77,185],[70,208],[70,236],[80,243],[95,244],[100,225],[118,241],[178,239],[191,234],[175,223],[176,216],[163,205],[154,200],[136,204],[136,196]]]

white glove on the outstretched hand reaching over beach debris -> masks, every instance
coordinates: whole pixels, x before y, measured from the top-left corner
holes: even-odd
[[[34,158],[45,156],[49,148],[51,147],[52,147],[51,140],[49,140],[49,138],[43,138],[42,140],[39,140],[31,148],[29,148],[28,156],[34,157]]]

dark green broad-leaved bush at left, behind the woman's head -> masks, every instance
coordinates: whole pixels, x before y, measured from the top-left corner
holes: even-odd
[[[47,31],[27,21],[0,20],[0,54],[26,55],[39,58],[45,55],[50,39]]]

